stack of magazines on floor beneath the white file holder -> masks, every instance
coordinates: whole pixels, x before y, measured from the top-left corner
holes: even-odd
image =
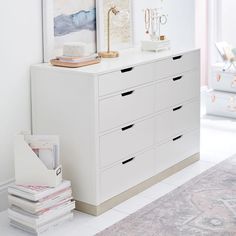
[[[13,184],[8,194],[10,224],[29,233],[42,233],[73,218],[70,181],[55,188]]]

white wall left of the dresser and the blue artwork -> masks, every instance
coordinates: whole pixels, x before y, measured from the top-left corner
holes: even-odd
[[[0,1],[0,9],[1,190],[14,177],[13,137],[30,130],[29,66],[42,61],[41,0]]]

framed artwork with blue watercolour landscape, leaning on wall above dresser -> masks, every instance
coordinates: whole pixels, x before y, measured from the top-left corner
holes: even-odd
[[[66,42],[84,42],[97,51],[98,1],[43,0],[44,62],[61,56]]]

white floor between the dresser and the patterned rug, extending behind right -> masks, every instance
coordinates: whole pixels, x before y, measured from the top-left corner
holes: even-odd
[[[236,121],[223,118],[203,117],[201,121],[201,160],[181,172],[154,185],[105,214],[94,217],[75,212],[74,220],[58,226],[45,236],[89,236],[120,221],[169,191],[184,184],[208,168],[236,153]],[[7,213],[0,213],[0,235],[28,235],[9,226]]]

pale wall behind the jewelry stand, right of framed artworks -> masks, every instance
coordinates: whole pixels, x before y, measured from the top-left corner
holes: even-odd
[[[134,0],[134,43],[145,38],[144,13],[146,8],[163,7],[168,23],[163,27],[173,48],[195,46],[195,0]]]

